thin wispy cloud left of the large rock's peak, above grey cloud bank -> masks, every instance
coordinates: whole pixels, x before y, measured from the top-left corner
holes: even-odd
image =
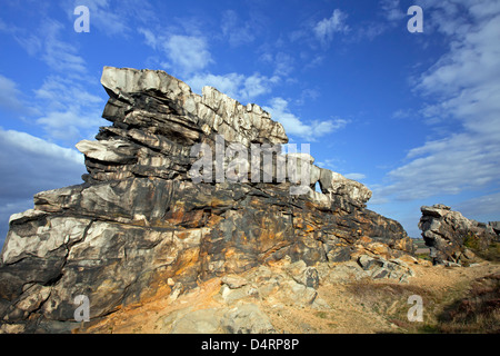
[[[6,95],[0,105],[16,108],[20,113],[36,116],[33,121],[31,118],[29,121],[41,126],[46,138],[74,144],[96,135],[103,122],[101,112],[106,101],[89,89],[99,86],[89,85],[84,59],[79,56],[73,43],[62,39],[68,31],[67,26],[47,17],[37,32],[9,27],[8,32],[18,43],[30,56],[46,62],[51,73],[57,75],[49,75],[42,86],[32,91],[34,96],[29,101],[27,92],[23,92],[27,99],[21,101],[16,83],[0,77],[0,90],[3,89]]]

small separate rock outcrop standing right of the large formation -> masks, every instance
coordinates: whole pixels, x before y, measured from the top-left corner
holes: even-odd
[[[470,263],[473,253],[468,247],[482,250],[497,238],[492,226],[468,219],[449,206],[423,206],[421,211],[419,228],[426,245],[431,249],[434,264]]]

